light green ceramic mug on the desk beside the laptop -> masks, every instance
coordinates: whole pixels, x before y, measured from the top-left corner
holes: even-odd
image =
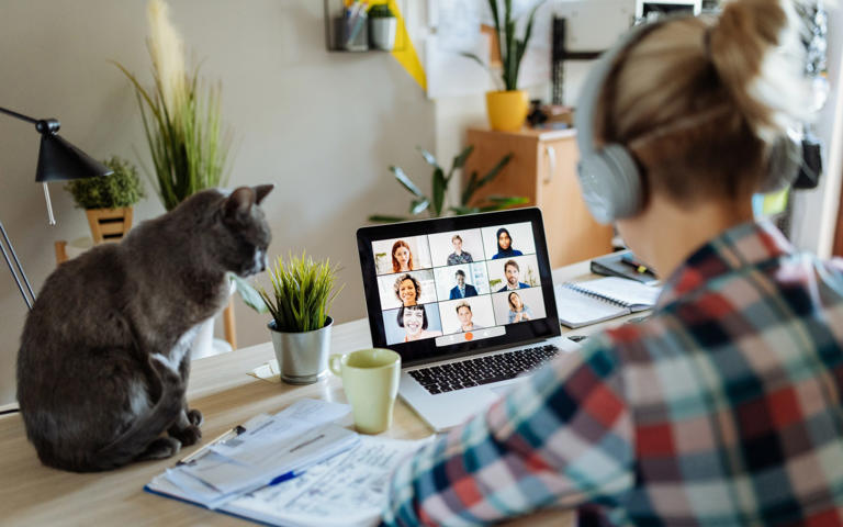
[[[373,348],[331,355],[328,368],[342,379],[358,431],[380,434],[392,426],[392,408],[401,377],[398,354]]]

